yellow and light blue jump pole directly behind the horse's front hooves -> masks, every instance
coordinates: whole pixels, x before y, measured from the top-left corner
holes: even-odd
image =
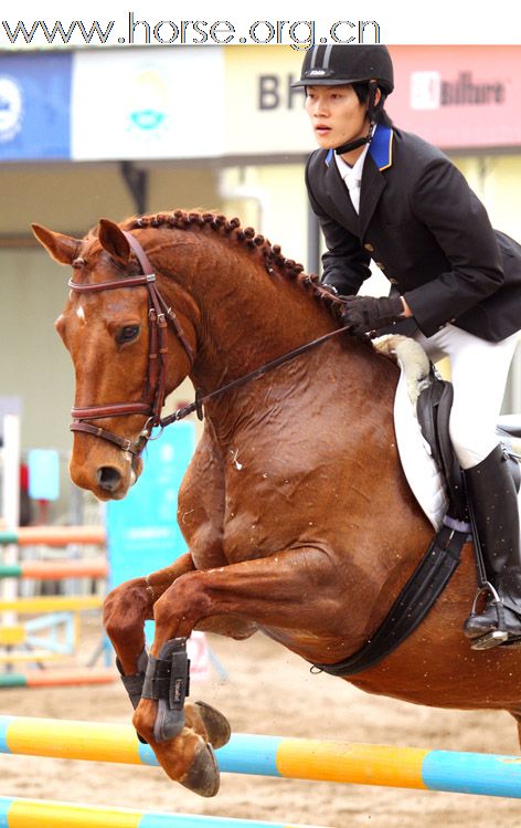
[[[0,753],[157,765],[131,725],[0,716]],[[521,798],[521,757],[234,734],[223,773]]]

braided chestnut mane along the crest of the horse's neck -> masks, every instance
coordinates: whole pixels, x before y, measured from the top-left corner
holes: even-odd
[[[251,227],[242,228],[240,219],[227,219],[214,212],[161,212],[153,216],[140,216],[130,218],[123,224],[125,230],[137,230],[139,228],[170,227],[176,230],[199,230],[201,232],[215,232],[226,240],[243,244],[249,252],[256,253],[264,259],[264,265],[268,274],[277,271],[281,276],[295,281],[300,287],[308,291],[313,298],[329,310],[336,321],[341,319],[341,303],[329,291],[325,290],[319,282],[319,276],[304,272],[304,266],[293,259],[283,255],[279,244],[272,244],[264,235],[255,232]]]

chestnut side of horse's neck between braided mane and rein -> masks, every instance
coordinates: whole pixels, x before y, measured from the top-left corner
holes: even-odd
[[[247,251],[222,258],[193,250],[181,280],[199,307],[198,358],[192,378],[203,391],[244,376],[336,327],[330,314],[299,284]],[[183,275],[179,274],[183,271]],[[188,272],[187,272],[188,271]]]

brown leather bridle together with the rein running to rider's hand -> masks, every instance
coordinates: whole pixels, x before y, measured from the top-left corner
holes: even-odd
[[[73,408],[71,415],[73,422],[70,428],[71,431],[81,431],[83,433],[93,434],[102,440],[111,442],[123,451],[129,451],[136,457],[140,457],[148,440],[151,438],[152,430],[157,427],[161,429],[158,437],[161,434],[163,428],[170,426],[172,422],[182,420],[188,415],[196,411],[200,420],[203,419],[203,405],[209,400],[216,399],[223,394],[231,391],[232,389],[240,388],[246,385],[253,379],[262,377],[279,365],[295,359],[300,354],[305,354],[307,350],[315,348],[318,345],[331,339],[333,336],[345,333],[349,326],[336,328],[329,334],[312,339],[311,342],[301,345],[294,350],[283,354],[276,359],[272,359],[269,363],[262,365],[244,377],[234,379],[232,382],[217,388],[215,391],[210,394],[201,395],[199,390],[195,391],[195,400],[183,408],[180,408],[176,413],[169,415],[168,417],[161,417],[161,410],[164,405],[164,398],[167,395],[167,354],[168,354],[168,339],[167,328],[168,323],[173,326],[176,335],[184,348],[184,352],[190,361],[190,368],[194,363],[193,349],[179,323],[174,312],[161,296],[157,284],[156,274],[152,266],[145,253],[143,249],[137,241],[137,239],[129,232],[123,231],[132,252],[135,253],[141,270],[142,275],[140,276],[127,276],[125,279],[115,279],[108,282],[98,282],[96,284],[78,284],[72,279],[68,281],[68,287],[76,293],[95,293],[100,291],[111,291],[118,287],[139,287],[145,286],[148,290],[148,319],[150,325],[150,340],[149,340],[149,354],[148,354],[148,373],[145,384],[143,397],[145,400],[138,402],[113,402],[106,406],[85,406],[83,408]],[[148,392],[148,394],[147,394]],[[136,442],[132,442],[129,438],[120,437],[119,434],[108,431],[107,429],[94,426],[91,420],[104,419],[106,417],[121,417],[126,415],[148,415],[148,420],[145,423],[142,431],[140,432]],[[157,438],[156,438],[157,439]]]

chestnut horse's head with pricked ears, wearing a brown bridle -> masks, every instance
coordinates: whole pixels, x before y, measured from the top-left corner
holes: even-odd
[[[159,292],[136,238],[114,222],[102,219],[84,239],[38,224],[33,231],[73,268],[55,323],[76,375],[71,476],[100,500],[118,500],[141,472],[164,397],[191,368],[194,329]]]

